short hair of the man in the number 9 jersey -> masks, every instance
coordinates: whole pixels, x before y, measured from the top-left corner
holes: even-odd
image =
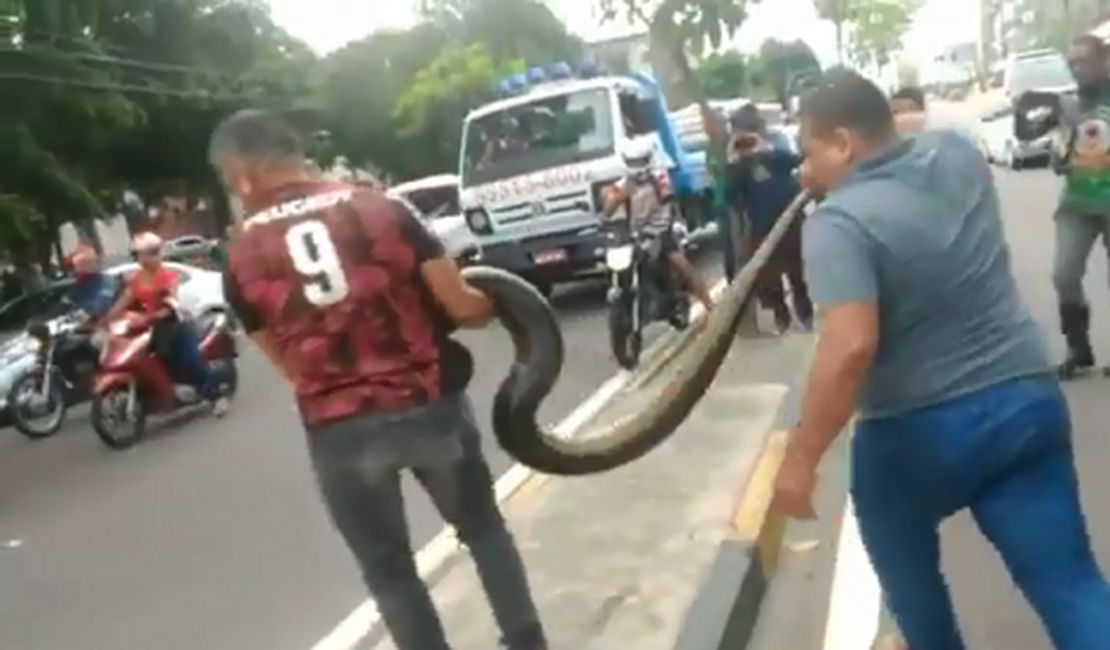
[[[216,163],[234,155],[253,163],[304,159],[301,138],[278,113],[243,110],[221,122],[212,132],[209,160]]]

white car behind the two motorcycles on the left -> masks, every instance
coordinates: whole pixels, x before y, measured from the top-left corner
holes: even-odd
[[[180,278],[178,302],[183,312],[199,317],[226,311],[222,274],[176,262],[164,264]],[[138,267],[132,262],[105,268],[104,273],[122,282]],[[30,338],[24,332],[27,323],[39,319],[57,326],[65,322],[73,309],[65,305],[63,297],[72,285],[72,278],[62,280],[0,306],[0,412],[7,410],[8,393],[16,378],[34,364]],[[7,413],[0,413],[0,423],[10,424]]]

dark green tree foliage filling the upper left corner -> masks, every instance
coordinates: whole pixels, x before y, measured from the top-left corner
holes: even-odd
[[[65,221],[115,212],[124,187],[150,197],[209,187],[204,143],[241,105],[311,88],[314,57],[254,0],[13,0],[0,38],[4,228],[51,240]],[[10,213],[10,214],[9,214]],[[0,240],[11,248],[17,242]]]

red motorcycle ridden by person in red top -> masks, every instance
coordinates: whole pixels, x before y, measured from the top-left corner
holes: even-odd
[[[199,329],[201,356],[209,364],[224,397],[239,387],[238,352],[228,316],[215,313],[201,322],[182,323]],[[200,405],[198,396],[181,397],[178,377],[151,348],[154,321],[129,313],[111,323],[93,380],[92,428],[112,449],[127,449],[147,433],[150,416],[172,416]]]

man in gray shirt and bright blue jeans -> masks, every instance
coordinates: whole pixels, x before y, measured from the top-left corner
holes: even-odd
[[[813,516],[816,467],[858,412],[851,497],[900,647],[965,650],[938,527],[967,508],[1058,649],[1110,648],[1068,405],[987,162],[951,131],[899,138],[881,91],[855,74],[815,90],[800,121],[826,190],[803,233],[823,327],[776,507]]]

